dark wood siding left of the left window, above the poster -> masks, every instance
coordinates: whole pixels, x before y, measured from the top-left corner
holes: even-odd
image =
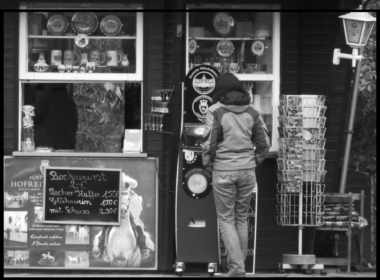
[[[18,147],[18,13],[4,13],[4,155]]]

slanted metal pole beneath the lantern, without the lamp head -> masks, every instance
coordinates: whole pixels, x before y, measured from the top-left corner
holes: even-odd
[[[359,48],[359,53],[358,53],[359,56],[363,54],[363,48],[364,47]],[[346,189],[348,160],[350,159],[351,139],[352,139],[352,133],[353,133],[352,129],[353,129],[354,120],[355,120],[356,101],[358,99],[360,73],[361,73],[361,60],[357,60],[355,71],[354,71],[354,80],[352,84],[350,111],[348,111],[348,122],[347,122],[347,128],[345,130],[346,137],[345,137],[345,143],[344,143],[342,172],[340,173],[339,193],[344,193]]]

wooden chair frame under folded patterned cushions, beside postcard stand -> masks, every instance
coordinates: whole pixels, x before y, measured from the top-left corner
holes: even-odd
[[[361,217],[364,216],[364,191],[361,191],[359,194],[352,194],[351,192],[348,194],[340,194],[340,193],[325,193],[325,204],[348,204],[348,209],[351,209],[352,206],[352,200],[360,200],[360,212],[359,215]],[[356,212],[357,209],[356,209]],[[363,228],[357,229],[352,228],[352,215],[351,211],[348,212],[348,224],[339,226],[339,225],[323,225],[320,227],[316,227],[315,231],[313,231],[313,237],[312,237],[312,245],[315,243],[315,234],[316,231],[319,232],[331,232],[334,234],[334,242],[335,242],[335,255],[338,255],[338,236],[340,234],[346,234],[348,237],[348,250],[347,250],[347,258],[316,258],[316,263],[319,264],[325,264],[325,265],[336,265],[336,266],[344,266],[347,265],[347,273],[350,273],[351,270],[351,236],[355,235],[356,240],[356,246],[358,248],[359,252],[359,266],[360,266],[360,272],[363,271]],[[357,239],[357,235],[359,235],[359,242]],[[311,249],[312,253],[314,251],[314,246],[312,246]]]

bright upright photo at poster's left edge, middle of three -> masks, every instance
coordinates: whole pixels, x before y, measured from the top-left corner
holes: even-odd
[[[4,211],[4,248],[25,248],[27,232],[27,211]]]

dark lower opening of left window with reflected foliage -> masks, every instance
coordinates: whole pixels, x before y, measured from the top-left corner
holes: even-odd
[[[125,129],[141,127],[141,83],[22,85],[22,105],[35,107],[37,149],[44,146],[55,151],[120,153]]]

